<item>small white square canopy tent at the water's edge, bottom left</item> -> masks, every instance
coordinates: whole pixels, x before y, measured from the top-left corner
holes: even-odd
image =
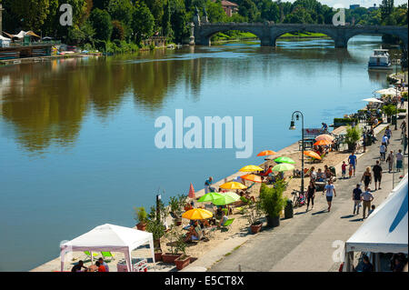
[[[128,272],[132,272],[131,252],[140,245],[149,243],[155,265],[154,237],[152,233],[119,225],[98,225],[88,233],[75,237],[61,245],[61,271],[64,270],[65,254],[75,251],[124,253]]]

